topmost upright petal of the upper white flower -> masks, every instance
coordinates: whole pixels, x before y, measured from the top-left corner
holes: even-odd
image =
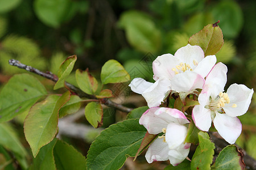
[[[200,46],[188,44],[178,49],[174,56],[180,59],[181,62],[187,63],[192,67],[194,59],[200,62],[204,58],[204,51]]]

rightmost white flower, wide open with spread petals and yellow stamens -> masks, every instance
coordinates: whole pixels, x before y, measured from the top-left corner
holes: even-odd
[[[212,122],[218,133],[233,144],[241,134],[242,124],[237,116],[245,114],[251,103],[253,89],[243,84],[232,84],[224,91],[228,69],[217,63],[205,80],[200,105],[193,108],[192,118],[197,128],[208,131]]]

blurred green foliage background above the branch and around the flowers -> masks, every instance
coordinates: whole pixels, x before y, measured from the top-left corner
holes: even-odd
[[[220,20],[224,46],[216,56],[229,69],[226,88],[238,83],[255,89],[255,6],[254,0],[0,0],[0,83],[24,72],[8,64],[11,58],[57,73],[73,54],[76,69],[88,67],[96,77],[114,58],[132,79],[150,81],[157,56],[174,54],[194,33]],[[243,131],[237,143],[256,159],[253,98],[239,117]]]

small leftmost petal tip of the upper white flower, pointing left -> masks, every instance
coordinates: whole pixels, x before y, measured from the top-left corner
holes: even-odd
[[[142,94],[147,88],[150,88],[154,83],[147,82],[142,78],[135,78],[128,85],[131,87],[131,90],[137,94]]]

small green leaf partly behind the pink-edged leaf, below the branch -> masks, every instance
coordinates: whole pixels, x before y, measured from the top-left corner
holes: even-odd
[[[77,95],[71,95],[67,103],[60,108],[59,118],[66,116],[67,114],[73,114],[79,111],[81,107],[81,99]]]

